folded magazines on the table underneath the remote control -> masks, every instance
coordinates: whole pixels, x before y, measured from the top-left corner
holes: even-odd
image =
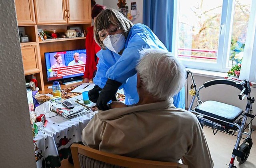
[[[72,119],[74,117],[78,117],[90,112],[90,109],[84,108],[82,105],[79,105],[75,101],[70,101],[70,103],[75,106],[74,109],[68,109],[68,107],[62,104],[54,104],[52,106],[52,110],[58,115],[65,117],[66,119]]]

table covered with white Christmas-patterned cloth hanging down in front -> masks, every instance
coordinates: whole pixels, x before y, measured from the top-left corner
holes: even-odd
[[[70,99],[76,99],[76,97]],[[59,115],[48,118],[46,127],[39,130],[34,138],[37,168],[60,167],[60,161],[71,156],[71,144],[82,144],[82,130],[94,114],[90,111],[86,115],[73,119],[65,119]]]

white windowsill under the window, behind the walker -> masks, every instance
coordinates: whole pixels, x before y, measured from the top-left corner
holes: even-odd
[[[186,69],[191,71],[193,75],[202,76],[202,77],[224,79],[224,77],[227,77],[228,75],[227,73],[224,73],[224,72],[207,71],[207,70],[194,69],[194,68],[186,68]]]

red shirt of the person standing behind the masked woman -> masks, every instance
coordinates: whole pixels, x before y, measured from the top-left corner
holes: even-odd
[[[97,61],[95,61],[95,55],[98,51],[100,51],[100,46],[95,42],[93,37],[93,26],[87,28],[88,33],[86,35],[85,40],[85,48],[86,48],[86,63],[85,63],[85,71],[84,78],[92,79],[93,72],[97,70],[96,65],[98,64],[99,58],[97,57]]]

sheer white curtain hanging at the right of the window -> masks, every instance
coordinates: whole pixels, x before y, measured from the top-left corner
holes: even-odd
[[[239,79],[256,81],[256,0],[252,1],[252,8],[248,22],[244,55]]]

